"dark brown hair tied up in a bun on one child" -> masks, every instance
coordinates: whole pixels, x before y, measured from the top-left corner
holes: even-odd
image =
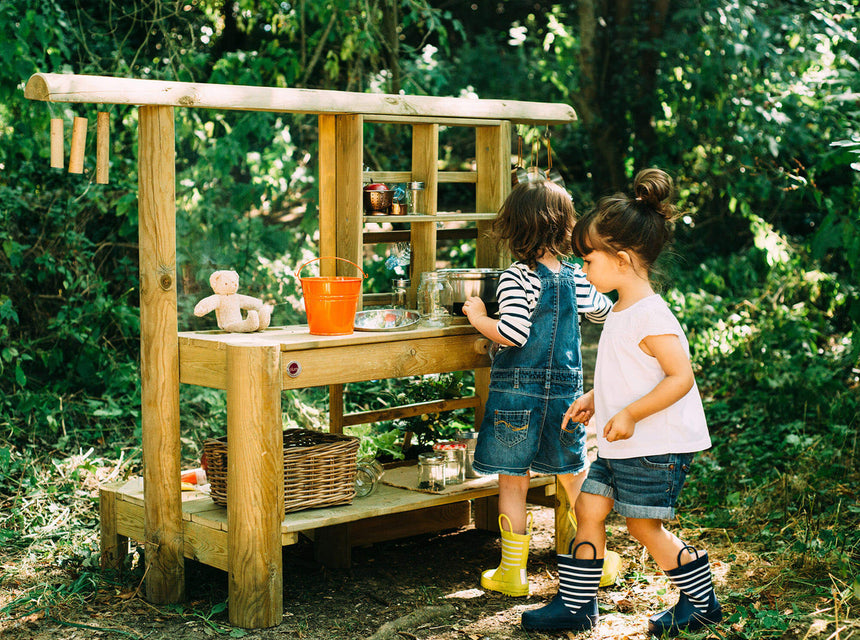
[[[643,169],[633,180],[633,195],[601,198],[573,228],[573,253],[632,251],[650,273],[672,238],[677,209],[671,203],[672,178],[660,169]]]

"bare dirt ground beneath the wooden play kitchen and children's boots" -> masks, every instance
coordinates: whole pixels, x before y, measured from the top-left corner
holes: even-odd
[[[481,571],[498,562],[499,539],[498,535],[469,526],[354,549],[352,567],[343,570],[326,570],[318,565],[310,542],[286,547],[284,617],[278,627],[271,629],[231,628],[227,612],[222,610],[223,605],[219,606],[227,598],[226,574],[189,562],[188,602],[184,605],[150,605],[135,593],[134,583],[125,580],[115,588],[100,588],[85,601],[70,599],[55,605],[47,615],[42,611],[17,620],[0,620],[0,636],[4,640],[182,640],[217,636],[248,640],[572,638],[574,634],[529,634],[519,626],[522,612],[548,601],[557,585],[553,512],[534,507],[534,515],[528,566],[531,593],[527,598],[480,589]],[[710,531],[709,539],[696,539],[696,530],[682,533],[693,544],[710,548],[718,593],[725,594],[750,582],[767,583],[767,564],[745,555],[723,533]],[[623,576],[615,587],[601,589],[599,627],[581,637],[646,639],[648,616],[672,604],[674,590],[667,587],[665,578],[626,535],[620,520],[610,522],[610,534],[611,547],[625,560]],[[724,598],[724,603],[730,615],[731,598]],[[803,635],[797,630],[784,637]],[[719,637],[738,636],[726,624]]]

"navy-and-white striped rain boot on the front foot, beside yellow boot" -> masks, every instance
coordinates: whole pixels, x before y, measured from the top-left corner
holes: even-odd
[[[576,550],[587,544],[593,560],[577,559]],[[570,546],[573,546],[571,541]],[[545,607],[523,613],[526,631],[583,631],[597,624],[597,588],[603,558],[590,542],[580,542],[568,555],[558,555],[558,593]]]

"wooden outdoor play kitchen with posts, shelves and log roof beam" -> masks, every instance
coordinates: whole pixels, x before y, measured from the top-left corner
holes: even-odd
[[[169,603],[184,599],[184,560],[196,559],[227,572],[231,624],[271,627],[283,617],[282,547],[294,544],[299,534],[314,540],[321,562],[346,566],[355,545],[468,523],[473,502],[476,526],[496,529],[498,485],[486,478],[439,494],[382,485],[348,505],[284,514],[283,390],[328,386],[330,430],[335,433],[345,425],[460,407],[474,407],[480,423],[489,382],[488,342],[465,321],[342,336],[310,335],[307,326],[258,333],[179,332],[174,110],[316,114],[320,256],[361,264],[363,244],[379,241],[369,239],[365,229],[370,221],[363,212],[365,183],[423,182],[420,208],[396,216],[396,222],[409,225],[408,231],[399,233],[407,233],[411,242],[414,299],[420,274],[436,268],[437,237],[446,233],[437,228],[439,222],[471,225],[476,267],[507,266],[500,264],[505,257],[498,255],[484,231],[511,188],[512,126],[568,124],[576,119],[571,107],[52,73],[33,75],[25,95],[48,102],[138,109],[143,477],[101,490],[104,567],[120,565],[129,539],[142,542],[146,597]],[[411,130],[409,171],[363,169],[368,123],[394,123]],[[440,127],[474,129],[474,170],[438,170]],[[99,163],[106,170],[101,151]],[[475,212],[437,211],[438,186],[446,182],[474,184]],[[373,216],[373,222],[385,218]],[[323,275],[354,273],[343,261],[320,264]],[[430,409],[413,405],[367,414],[343,412],[346,383],[464,370],[475,371],[473,397],[439,400],[429,403]],[[180,491],[181,383],[226,390],[230,460],[226,509],[206,494]],[[563,494],[558,494],[561,502]],[[530,497],[539,504],[556,505],[554,480],[533,478]],[[566,510],[567,505],[557,509]],[[556,518],[556,523],[564,528],[567,518]],[[566,532],[557,533],[557,539],[563,539]]]

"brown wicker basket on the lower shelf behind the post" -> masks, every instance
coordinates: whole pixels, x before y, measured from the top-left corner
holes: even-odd
[[[227,438],[203,443],[212,500],[227,505]],[[349,504],[355,496],[358,438],[284,431],[284,513]]]

